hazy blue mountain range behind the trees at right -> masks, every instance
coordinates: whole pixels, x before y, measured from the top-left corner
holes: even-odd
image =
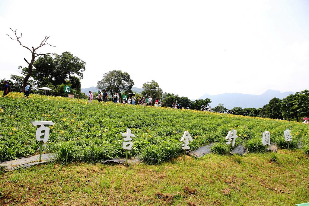
[[[259,108],[268,104],[269,101],[277,97],[279,99],[286,98],[288,95],[294,94],[294,92],[283,92],[269,89],[261,95],[254,94],[240,94],[240,93],[224,93],[224,94],[204,94],[199,99],[210,98],[212,101],[210,106],[215,107],[219,103],[222,103],[227,109],[233,109],[234,107],[242,108]]]

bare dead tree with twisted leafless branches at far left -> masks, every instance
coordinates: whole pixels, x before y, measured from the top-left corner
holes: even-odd
[[[10,27],[10,29],[11,29],[11,27]],[[38,47],[36,47],[36,48],[34,48],[34,47],[32,46],[32,49],[29,49],[27,46],[24,46],[24,45],[19,41],[19,39],[20,39],[21,36],[22,36],[22,33],[20,33],[20,36],[18,37],[17,34],[16,34],[17,29],[16,29],[15,31],[14,31],[13,29],[11,29],[11,31],[14,32],[16,39],[13,39],[13,38],[12,38],[10,35],[8,35],[8,34],[6,34],[6,35],[7,35],[7,36],[10,36],[10,38],[11,38],[12,40],[18,41],[19,44],[20,44],[22,47],[28,49],[28,50],[31,52],[31,61],[30,61],[30,63],[26,60],[26,58],[23,58],[23,59],[27,62],[28,66],[29,66],[28,74],[27,74],[27,75],[25,76],[25,78],[23,79],[23,90],[22,90],[22,91],[24,91],[24,90],[25,90],[25,87],[26,87],[26,83],[27,83],[29,77],[32,75],[32,67],[33,67],[34,59],[35,59],[36,57],[38,57],[38,56],[43,56],[43,55],[46,55],[46,54],[52,54],[52,55],[54,55],[53,53],[46,53],[46,54],[39,53],[39,54],[38,54],[38,53],[36,52],[36,49],[39,49],[40,47],[42,47],[42,46],[44,46],[44,45],[46,45],[46,44],[49,45],[49,46],[53,46],[53,45],[50,45],[49,43],[47,43],[47,40],[48,40],[49,37],[45,36],[44,39],[43,39],[43,41],[41,42],[40,46],[38,46]],[[56,46],[53,46],[53,47],[56,47]]]

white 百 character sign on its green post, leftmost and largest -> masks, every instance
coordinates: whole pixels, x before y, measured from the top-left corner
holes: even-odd
[[[31,121],[31,124],[33,126],[37,126],[36,128],[36,140],[40,141],[40,161],[42,161],[42,144],[43,142],[48,142],[49,138],[49,127],[46,127],[45,125],[55,125],[52,121],[43,121],[43,117],[41,118],[41,121]],[[42,137],[43,136],[43,137]]]

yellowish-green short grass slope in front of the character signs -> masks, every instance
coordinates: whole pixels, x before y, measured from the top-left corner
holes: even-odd
[[[73,163],[3,173],[0,205],[295,205],[309,201],[300,150],[182,157],[160,165]]]

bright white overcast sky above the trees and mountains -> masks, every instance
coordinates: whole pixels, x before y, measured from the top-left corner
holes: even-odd
[[[6,1],[0,0],[0,79],[27,66],[44,36],[86,64],[82,88],[108,71],[135,86],[154,79],[163,92],[261,94],[307,89],[309,1]]]

